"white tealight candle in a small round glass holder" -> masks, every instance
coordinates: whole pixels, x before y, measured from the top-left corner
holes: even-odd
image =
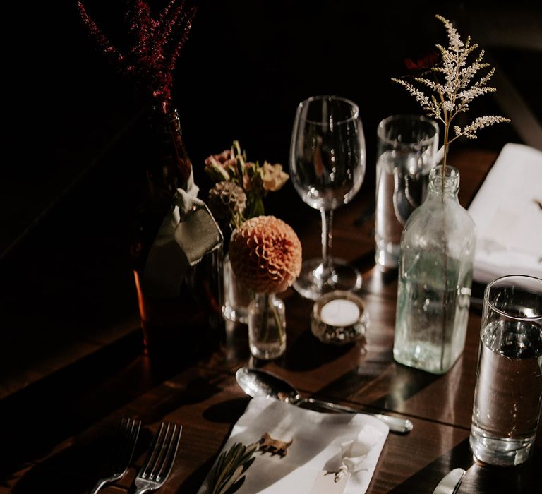
[[[363,302],[350,291],[332,291],[314,303],[311,330],[321,342],[353,342],[365,335],[368,323]]]

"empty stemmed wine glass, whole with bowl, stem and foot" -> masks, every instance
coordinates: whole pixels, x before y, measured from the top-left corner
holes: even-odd
[[[299,104],[291,133],[291,180],[301,198],[322,215],[322,258],[306,260],[294,288],[308,299],[361,287],[361,275],[331,257],[333,210],[356,195],[365,174],[366,150],[359,108],[337,96]]]

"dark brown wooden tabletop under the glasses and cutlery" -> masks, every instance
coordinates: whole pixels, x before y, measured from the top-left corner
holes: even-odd
[[[456,152],[453,164],[461,171],[463,205],[495,157],[494,152]],[[243,325],[227,325],[218,343],[200,342],[198,351],[181,345],[169,356],[147,354],[140,330],[133,327],[0,400],[0,493],[87,492],[103,457],[103,439],[121,415],[140,417],[143,433],[129,473],[103,492],[128,492],[152,434],[167,420],[182,424],[183,434],[174,470],[159,492],[195,493],[248,404],[234,378],[236,369],[246,365],[281,375],[303,394],[385,411],[414,423],[411,433],[388,436],[368,493],[431,493],[456,467],[468,469],[460,493],[540,492],[536,472],[542,464],[541,434],[534,458],[524,466],[476,464],[469,450],[479,306],[471,306],[464,353],[445,375],[393,361],[397,273],[375,268],[374,223],[365,214],[370,203],[371,194],[360,194],[337,210],[333,246],[336,255],[363,272],[361,296],[371,318],[365,345],[318,342],[309,326],[312,302],[291,289],[283,294],[287,352],[269,363],[251,359]],[[299,198],[294,209],[285,219],[298,231],[304,257],[316,256],[318,212]],[[133,313],[119,315],[118,324],[126,320],[133,323]],[[193,335],[186,335],[187,345],[192,340]]]

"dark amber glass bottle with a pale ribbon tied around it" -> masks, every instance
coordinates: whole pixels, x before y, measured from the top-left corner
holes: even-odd
[[[145,344],[150,353],[197,354],[202,344],[214,346],[212,340],[217,340],[222,328],[222,318],[217,317],[222,300],[217,253],[209,253],[195,267],[187,267],[174,296],[150,294],[144,275],[152,244],[174,207],[176,190],[188,191],[193,186],[192,165],[175,110],[164,114],[153,109],[150,113],[143,159],[147,187],[138,207],[132,254]],[[194,331],[196,327],[198,331]]]

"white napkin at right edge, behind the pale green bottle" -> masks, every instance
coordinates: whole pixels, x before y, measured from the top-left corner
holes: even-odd
[[[542,152],[509,143],[469,207],[476,223],[474,279],[542,277]]]

